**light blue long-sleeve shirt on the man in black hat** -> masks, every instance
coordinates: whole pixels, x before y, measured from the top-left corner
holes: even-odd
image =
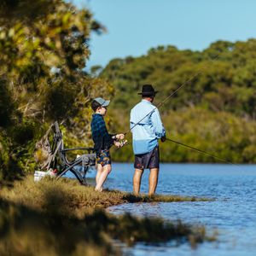
[[[148,116],[143,119],[147,114]],[[136,125],[141,119],[143,120]],[[134,125],[136,126],[132,128]],[[166,135],[158,109],[147,100],[142,100],[131,109],[130,128],[134,154],[150,152],[158,145],[158,139]]]

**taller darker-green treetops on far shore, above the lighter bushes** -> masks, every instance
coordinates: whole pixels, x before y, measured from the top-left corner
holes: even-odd
[[[101,75],[113,82],[114,102],[120,108],[131,108],[137,102],[134,92],[141,84],[154,84],[160,90],[160,101],[195,77],[163,107],[165,111],[201,106],[254,119],[255,48],[254,39],[234,44],[218,41],[202,52],[158,47],[148,55],[110,61]]]

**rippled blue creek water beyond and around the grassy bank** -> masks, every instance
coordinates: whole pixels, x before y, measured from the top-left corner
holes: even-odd
[[[148,170],[143,174],[141,192],[148,192]],[[90,172],[89,177],[95,177]],[[105,188],[132,191],[133,165],[114,163]],[[256,255],[256,166],[216,164],[162,164],[157,194],[195,195],[215,201],[129,203],[109,207],[114,214],[131,212],[167,220],[181,219],[187,224],[203,224],[218,240],[203,242],[192,249],[188,243],[158,246],[138,243],[122,247],[127,255]]]

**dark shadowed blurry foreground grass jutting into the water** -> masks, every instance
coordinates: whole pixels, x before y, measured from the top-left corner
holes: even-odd
[[[44,212],[0,200],[0,254],[119,255],[113,239],[128,246],[137,241],[177,241],[190,242],[192,247],[212,239],[203,227],[160,218],[135,218],[130,214],[116,217],[103,210],[88,212],[83,218],[67,216],[60,195],[68,200],[63,193],[45,197],[48,202],[44,207],[48,208]]]

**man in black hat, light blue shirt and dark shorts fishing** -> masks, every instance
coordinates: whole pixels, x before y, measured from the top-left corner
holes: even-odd
[[[144,84],[142,92],[138,93],[138,95],[143,96],[143,100],[131,109],[130,126],[135,154],[133,176],[135,195],[140,192],[144,169],[150,170],[148,195],[154,195],[158,183],[160,161],[158,139],[164,142],[166,131],[162,125],[158,109],[152,104],[157,92],[151,84]]]

